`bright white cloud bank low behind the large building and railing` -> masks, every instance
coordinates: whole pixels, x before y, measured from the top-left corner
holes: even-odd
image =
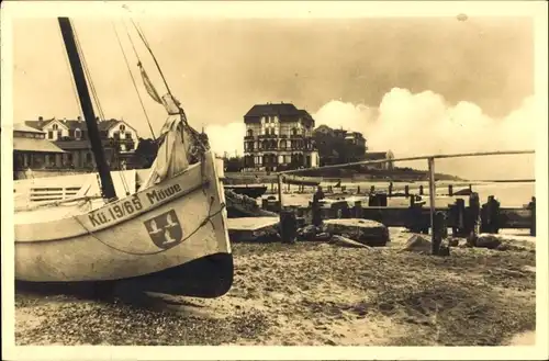
[[[395,157],[488,150],[535,149],[533,98],[503,119],[492,119],[471,102],[448,104],[432,91],[394,88],[379,106],[333,100],[312,114],[316,126],[361,132],[370,150],[391,149]],[[206,127],[214,151],[244,154],[244,122]],[[425,169],[425,161],[401,163]],[[440,160],[436,170],[470,178],[533,178],[534,156]]]

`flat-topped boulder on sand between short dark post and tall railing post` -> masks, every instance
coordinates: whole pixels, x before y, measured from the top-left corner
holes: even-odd
[[[346,238],[372,247],[382,247],[390,241],[389,228],[370,219],[326,219],[324,221],[324,229],[330,235],[346,235],[348,236]]]

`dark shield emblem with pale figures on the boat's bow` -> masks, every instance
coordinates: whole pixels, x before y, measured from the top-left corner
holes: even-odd
[[[145,221],[144,224],[158,248],[168,249],[183,240],[183,230],[173,210]]]

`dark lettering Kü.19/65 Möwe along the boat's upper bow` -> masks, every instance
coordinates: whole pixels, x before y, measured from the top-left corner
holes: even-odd
[[[145,194],[143,194],[145,196],[142,198],[135,194],[131,199],[116,202],[112,205],[108,205],[93,213],[90,213],[88,217],[93,227],[99,227],[104,224],[119,221],[121,218],[138,213],[144,207],[142,200],[146,200],[148,203],[146,204],[146,206],[150,206],[158,202],[168,200],[177,193],[180,193],[181,191],[181,185],[172,184],[165,189],[157,189],[146,192]]]

